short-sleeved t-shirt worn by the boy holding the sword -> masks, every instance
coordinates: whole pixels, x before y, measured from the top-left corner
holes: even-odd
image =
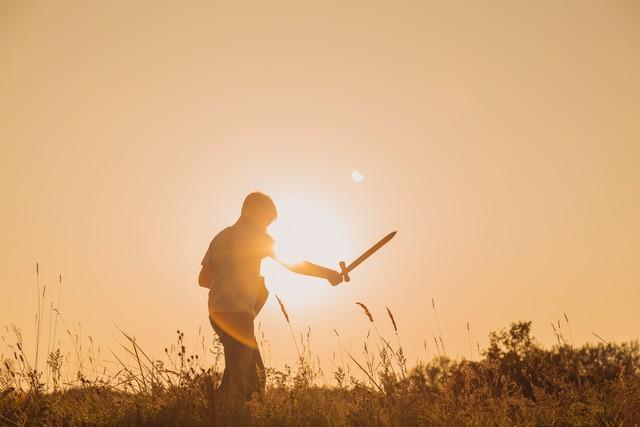
[[[255,316],[258,294],[264,286],[262,259],[273,253],[273,239],[264,229],[237,222],[218,233],[202,265],[212,272],[209,312],[245,312]]]

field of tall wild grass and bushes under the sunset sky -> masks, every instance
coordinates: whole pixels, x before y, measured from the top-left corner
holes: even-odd
[[[374,344],[358,357],[347,353],[331,385],[318,385],[319,365],[301,339],[297,366],[268,369],[266,395],[246,405],[216,393],[222,349],[215,341],[207,349],[213,362],[203,363],[188,354],[178,331],[161,361],[123,332],[129,362],[118,359],[116,372],[85,366],[63,378],[59,349],[49,349],[46,368],[35,370],[14,330],[15,342],[5,339],[12,357],[0,368],[0,425],[640,425],[636,342],[574,348],[558,332],[558,344],[544,349],[531,337],[531,324],[517,322],[490,334],[479,361],[447,358],[440,337],[438,357],[408,367],[399,340],[382,337],[360,306]],[[95,354],[85,351],[92,361]]]

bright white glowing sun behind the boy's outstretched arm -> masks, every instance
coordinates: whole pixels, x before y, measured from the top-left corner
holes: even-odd
[[[326,200],[306,197],[276,200],[276,204],[278,219],[269,227],[276,256],[289,264],[307,260],[337,270],[351,252],[352,240],[340,210]],[[262,274],[272,295],[280,295],[289,305],[317,304],[331,288],[322,279],[292,273],[273,261],[262,264]]]

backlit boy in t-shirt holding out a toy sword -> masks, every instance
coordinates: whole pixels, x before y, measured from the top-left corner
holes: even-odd
[[[245,400],[254,392],[263,392],[265,386],[253,325],[269,294],[260,276],[262,259],[271,257],[294,273],[326,279],[332,286],[342,282],[335,270],[308,261],[288,265],[275,257],[267,227],[277,215],[269,196],[249,194],[236,223],[211,241],[198,277],[200,286],[210,289],[209,321],[224,347],[220,389]]]

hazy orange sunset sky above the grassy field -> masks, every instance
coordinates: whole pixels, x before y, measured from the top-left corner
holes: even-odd
[[[634,0],[3,0],[0,144],[0,325],[30,345],[36,262],[105,349],[213,337],[199,263],[256,189],[329,266],[398,230],[337,288],[264,263],[272,365],[295,360],[274,294],[323,360],[334,328],[359,354],[356,301],[410,362],[431,298],[450,354],[467,321],[473,347],[515,320],[551,345],[563,313],[578,344],[638,338]]]

